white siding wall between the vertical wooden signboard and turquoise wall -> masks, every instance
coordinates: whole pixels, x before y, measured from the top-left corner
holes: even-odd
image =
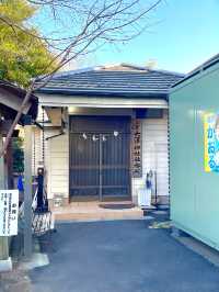
[[[163,119],[141,120],[142,123],[142,178],[132,179],[132,195],[146,186],[149,170],[157,171],[158,195],[169,195],[168,115]]]

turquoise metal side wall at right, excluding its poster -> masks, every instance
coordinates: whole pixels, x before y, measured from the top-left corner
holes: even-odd
[[[219,113],[219,64],[170,94],[171,218],[219,250],[219,172],[205,171],[206,112]]]

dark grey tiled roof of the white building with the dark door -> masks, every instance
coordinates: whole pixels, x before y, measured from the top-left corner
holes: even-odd
[[[82,96],[168,97],[184,76],[146,67],[118,65],[57,74],[38,92]]]

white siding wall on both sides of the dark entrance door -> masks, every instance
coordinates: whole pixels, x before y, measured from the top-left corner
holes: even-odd
[[[163,119],[141,120],[142,123],[142,178],[132,179],[132,196],[145,187],[146,175],[157,170],[158,195],[169,195],[169,157],[168,157],[168,116]],[[45,136],[58,134],[58,130],[45,131]],[[42,148],[38,146],[42,134],[36,130],[36,167],[42,160]],[[45,162],[47,171],[48,199],[56,195],[69,198],[69,135],[55,137],[45,143]]]

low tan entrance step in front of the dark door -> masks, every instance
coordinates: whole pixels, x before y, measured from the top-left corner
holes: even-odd
[[[118,202],[111,204],[118,205]],[[131,202],[119,202],[131,204]],[[143,211],[138,206],[130,209],[105,209],[100,202],[72,202],[68,206],[54,210],[56,221],[111,221],[111,220],[141,220]]]

